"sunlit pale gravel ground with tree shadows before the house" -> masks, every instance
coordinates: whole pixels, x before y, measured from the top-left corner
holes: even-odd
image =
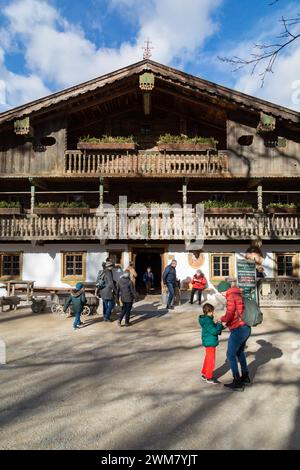
[[[169,313],[155,297],[133,326],[22,308],[0,313],[1,449],[299,449],[300,311],[266,309],[248,342],[243,393],[200,379],[199,307]],[[217,351],[225,363],[228,333]]]

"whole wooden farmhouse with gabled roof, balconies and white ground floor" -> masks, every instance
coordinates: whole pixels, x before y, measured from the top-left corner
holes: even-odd
[[[175,258],[184,290],[248,253],[261,298],[294,303],[299,182],[299,113],[143,60],[0,114],[0,281],[68,288],[110,257],[159,289]]]

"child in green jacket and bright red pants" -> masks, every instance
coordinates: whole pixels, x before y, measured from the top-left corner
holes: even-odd
[[[219,344],[218,336],[224,327],[222,323],[214,322],[214,307],[211,304],[203,305],[203,315],[199,316],[199,324],[202,328],[202,344],[205,347],[205,359],[202,367],[202,379],[209,384],[217,384],[213,379],[216,360],[216,347]]]

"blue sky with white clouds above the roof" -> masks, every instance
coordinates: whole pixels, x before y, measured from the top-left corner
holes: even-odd
[[[154,61],[300,111],[300,39],[263,87],[259,69],[218,59],[278,42],[280,18],[300,15],[300,0],[271,3],[0,0],[0,112],[138,62],[148,38]]]

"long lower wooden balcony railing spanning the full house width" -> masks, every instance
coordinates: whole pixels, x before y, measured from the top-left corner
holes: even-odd
[[[81,216],[0,215],[1,241],[43,240],[187,240],[195,239],[196,224],[191,212]],[[299,240],[300,215],[207,215],[205,240]],[[201,237],[200,237],[201,238]]]

